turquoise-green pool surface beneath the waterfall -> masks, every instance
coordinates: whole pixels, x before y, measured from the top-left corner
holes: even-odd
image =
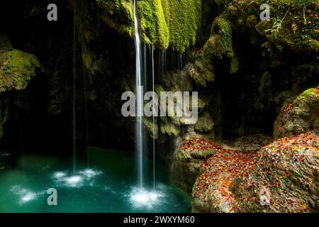
[[[0,212],[189,212],[190,198],[156,165],[156,189],[136,187],[131,153],[89,149],[89,163],[24,155],[15,165],[0,157]],[[151,164],[150,164],[151,165]],[[0,166],[0,167],[1,167]],[[150,182],[152,185],[152,182]],[[47,189],[57,189],[57,206],[48,206]]]

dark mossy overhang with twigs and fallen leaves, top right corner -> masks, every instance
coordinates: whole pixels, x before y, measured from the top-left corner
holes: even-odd
[[[259,21],[259,6],[269,4],[271,20]],[[306,6],[305,14],[303,7]],[[225,17],[232,21],[237,31],[250,29],[251,38],[254,31],[277,46],[293,52],[307,52],[318,55],[319,52],[319,17],[318,1],[306,0],[242,0],[230,1]],[[245,24],[243,23],[245,21]],[[257,23],[259,22],[259,23]],[[292,31],[292,25],[296,31]],[[256,43],[256,42],[254,42]]]

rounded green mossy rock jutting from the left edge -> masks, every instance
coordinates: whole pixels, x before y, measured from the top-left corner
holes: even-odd
[[[0,50],[0,92],[25,89],[36,70],[43,69],[35,55],[20,50]]]

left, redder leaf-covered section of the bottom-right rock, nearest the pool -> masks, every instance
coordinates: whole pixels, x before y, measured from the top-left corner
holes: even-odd
[[[192,196],[192,211],[230,213],[239,211],[239,205],[232,186],[240,175],[247,177],[247,171],[257,161],[255,151],[241,152],[217,147],[216,153],[201,165],[202,174],[196,179]]]

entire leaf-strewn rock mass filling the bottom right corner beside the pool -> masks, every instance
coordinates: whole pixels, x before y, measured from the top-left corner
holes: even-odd
[[[319,138],[281,138],[257,152],[218,149],[201,165],[193,211],[318,212]]]

